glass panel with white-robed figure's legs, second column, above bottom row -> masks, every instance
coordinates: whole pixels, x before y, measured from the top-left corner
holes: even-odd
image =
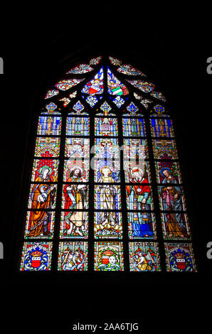
[[[88,238],[88,212],[61,212],[60,239]]]

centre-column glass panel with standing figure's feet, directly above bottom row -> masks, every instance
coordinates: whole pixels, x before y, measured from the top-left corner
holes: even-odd
[[[95,239],[122,238],[121,212],[95,212],[94,217]]]

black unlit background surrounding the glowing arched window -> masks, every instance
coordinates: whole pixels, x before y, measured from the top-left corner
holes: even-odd
[[[70,332],[72,323],[139,319],[142,330],[174,329],[181,333],[201,325],[208,330],[211,263],[206,244],[211,233],[211,84],[206,72],[212,56],[211,9],[203,2],[150,4],[9,4],[2,11],[1,75],[1,261],[6,324]],[[48,77],[66,57],[95,50],[124,55],[129,63],[148,68],[159,90],[166,92],[176,119],[199,272],[195,279],[160,280],[152,284],[27,285],[11,274],[11,240],[16,232],[17,205],[30,112]],[[142,68],[142,61],[144,68]],[[145,72],[145,71],[144,71]],[[3,181],[3,182],[2,182]],[[18,284],[17,284],[18,283]],[[100,282],[101,283],[101,282]],[[42,332],[43,331],[43,332]],[[136,332],[135,332],[136,333]]]

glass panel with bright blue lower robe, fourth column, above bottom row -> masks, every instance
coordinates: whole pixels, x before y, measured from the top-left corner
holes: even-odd
[[[156,220],[153,212],[127,212],[129,239],[155,239]]]

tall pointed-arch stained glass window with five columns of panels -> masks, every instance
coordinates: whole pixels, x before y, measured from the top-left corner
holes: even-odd
[[[21,271],[196,271],[174,124],[146,74],[74,64],[38,112]]]

